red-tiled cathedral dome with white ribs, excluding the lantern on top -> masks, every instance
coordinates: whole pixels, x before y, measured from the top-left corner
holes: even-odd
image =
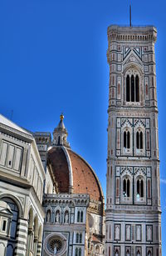
[[[94,170],[71,148],[51,147],[47,152],[47,167],[51,170],[57,193],[87,193],[90,199],[102,202],[102,188]]]

